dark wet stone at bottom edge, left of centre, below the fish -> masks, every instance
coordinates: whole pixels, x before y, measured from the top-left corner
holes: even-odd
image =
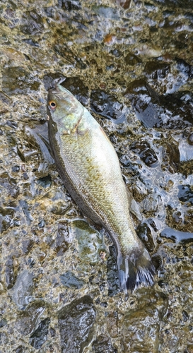
[[[95,308],[89,296],[71,301],[59,311],[62,353],[81,353],[93,338]]]

